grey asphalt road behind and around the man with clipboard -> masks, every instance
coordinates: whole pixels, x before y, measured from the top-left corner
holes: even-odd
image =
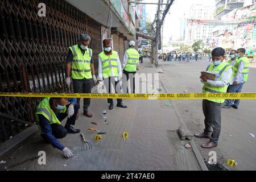
[[[203,84],[200,82],[200,72],[205,71],[208,60],[199,63],[164,62],[164,74],[161,75],[168,92],[172,93],[201,93]],[[162,63],[160,61],[160,67]],[[243,86],[242,92],[256,92],[256,67],[250,65],[249,81]],[[175,100],[180,114],[192,133],[199,133],[204,129],[204,115],[201,100]],[[255,170],[256,143],[256,101],[242,100],[239,109],[222,109],[222,129],[219,145],[207,150],[200,144],[208,139],[195,138],[197,147],[205,159],[209,159],[209,151],[216,151],[217,163],[223,164],[229,170]],[[234,159],[237,166],[229,167],[227,159]]]

